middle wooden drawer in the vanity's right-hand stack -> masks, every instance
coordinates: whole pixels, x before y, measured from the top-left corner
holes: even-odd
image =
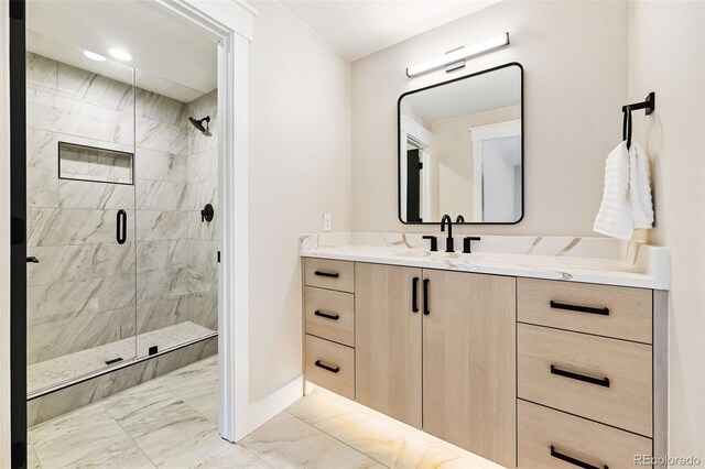
[[[519,397],[648,437],[651,346],[520,324]]]

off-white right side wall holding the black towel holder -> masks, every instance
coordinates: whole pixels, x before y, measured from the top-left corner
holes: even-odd
[[[705,3],[629,2],[629,101],[651,157],[657,225],[671,248],[670,456],[705,461]]]

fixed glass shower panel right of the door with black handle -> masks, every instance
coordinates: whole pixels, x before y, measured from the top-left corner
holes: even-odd
[[[218,330],[218,117],[215,89],[140,69],[135,86],[137,338],[144,357]]]

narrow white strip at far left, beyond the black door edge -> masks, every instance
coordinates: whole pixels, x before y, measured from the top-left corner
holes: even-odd
[[[0,467],[10,467],[10,18],[0,0]]]

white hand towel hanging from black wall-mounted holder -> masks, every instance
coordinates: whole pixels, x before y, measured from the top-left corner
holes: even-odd
[[[630,240],[634,228],[653,226],[649,160],[632,140],[631,149],[621,142],[607,156],[603,203],[593,230]]]

